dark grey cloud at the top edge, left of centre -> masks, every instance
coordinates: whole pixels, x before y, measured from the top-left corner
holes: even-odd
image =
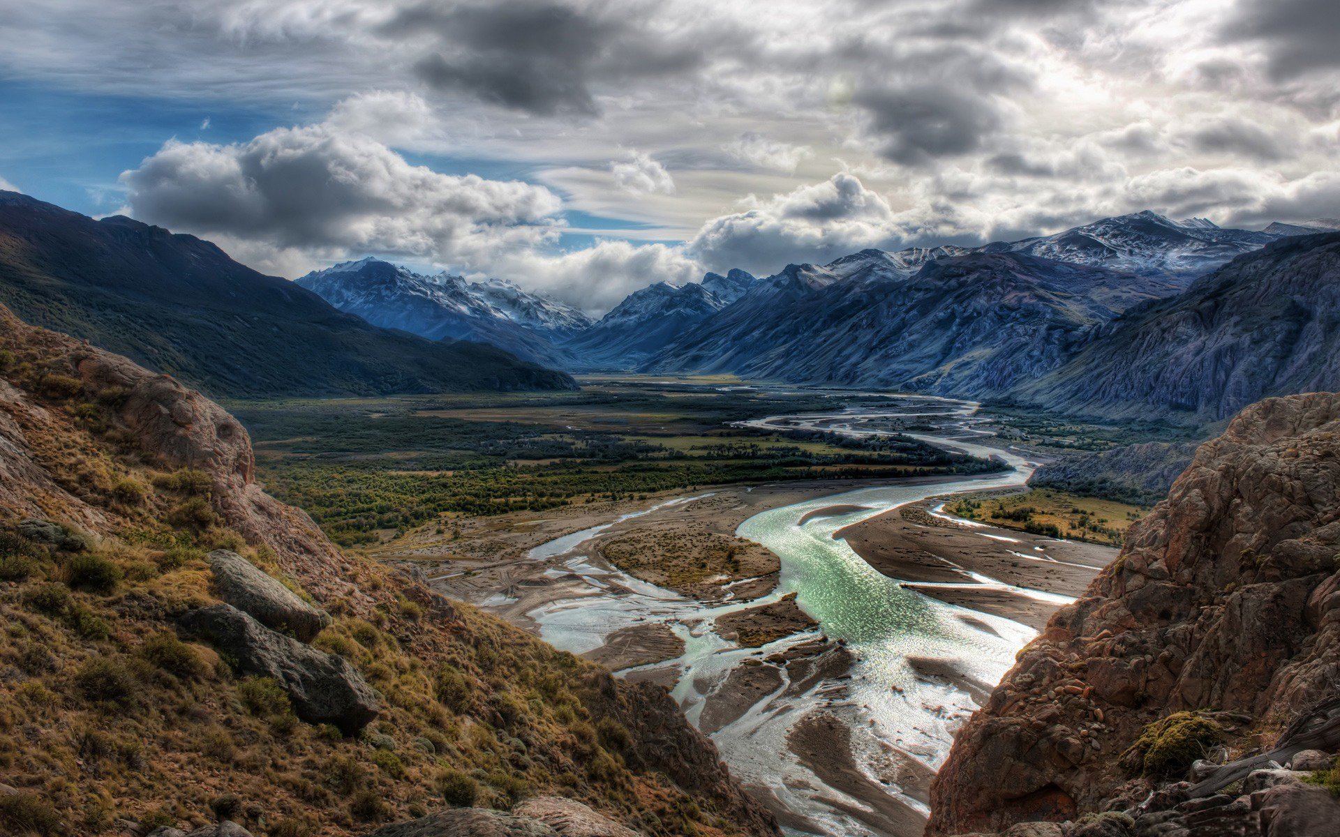
[[[434,35],[414,72],[454,90],[536,115],[599,112],[594,87],[691,71],[708,44],[649,28],[643,3],[496,0],[406,8],[382,32]]]

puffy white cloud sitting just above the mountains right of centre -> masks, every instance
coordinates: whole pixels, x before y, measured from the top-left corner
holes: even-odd
[[[704,224],[689,253],[714,271],[769,271],[781,260],[828,261],[894,234],[888,202],[851,174],[753,204]]]

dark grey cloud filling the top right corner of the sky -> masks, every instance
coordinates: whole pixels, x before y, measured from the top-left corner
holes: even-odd
[[[1340,67],[1340,3],[1336,0],[1238,0],[1223,27],[1229,40],[1260,43],[1276,79]]]

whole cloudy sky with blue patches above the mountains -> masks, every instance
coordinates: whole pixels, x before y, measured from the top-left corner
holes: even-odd
[[[1340,216],[1336,0],[0,0],[0,187],[296,277]]]

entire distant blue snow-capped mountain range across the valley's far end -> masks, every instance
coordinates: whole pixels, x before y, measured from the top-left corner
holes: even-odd
[[[866,249],[766,279],[730,271],[657,283],[595,321],[500,280],[422,276],[370,258],[297,283],[377,325],[492,343],[570,371],[730,372],[1014,399],[1128,309],[1175,297],[1270,242],[1331,228],[1340,222],[1256,232],[1139,212],[978,248]],[[490,296],[500,289],[505,301]]]

